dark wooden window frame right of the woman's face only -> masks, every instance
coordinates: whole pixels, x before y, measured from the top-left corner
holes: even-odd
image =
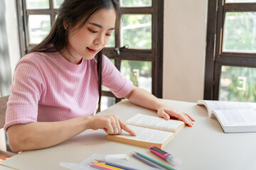
[[[151,14],[152,16],[152,45],[151,50],[123,49],[116,55],[114,48],[107,48],[107,57],[114,60],[120,70],[122,60],[148,61],[152,63],[152,94],[162,98],[163,87],[163,30],[164,30],[164,0],[152,0],[152,6],[139,8],[122,8],[122,14]],[[119,33],[115,36],[115,47],[120,47]],[[103,96],[114,97],[110,91],[102,91]],[[115,98],[116,103],[121,98]]]

